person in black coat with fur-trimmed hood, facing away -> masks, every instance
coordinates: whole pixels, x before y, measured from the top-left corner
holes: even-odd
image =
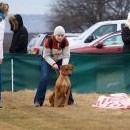
[[[9,17],[11,31],[13,31],[13,38],[10,53],[27,53],[28,45],[28,31],[23,25],[23,19],[21,15],[16,14]]]

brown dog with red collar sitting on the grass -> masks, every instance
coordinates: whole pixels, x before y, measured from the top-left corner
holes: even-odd
[[[56,80],[54,92],[49,97],[49,102],[53,107],[64,107],[68,105],[70,95],[71,82],[69,79],[72,74],[73,65],[62,65],[60,67],[60,75]]]

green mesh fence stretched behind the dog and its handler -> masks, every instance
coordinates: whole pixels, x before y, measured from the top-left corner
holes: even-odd
[[[130,92],[130,54],[77,54],[70,63],[72,91],[79,93]],[[41,56],[6,54],[2,65],[3,90],[35,89],[40,77]],[[13,71],[12,71],[13,68]],[[54,87],[57,74],[52,70],[48,88]]]

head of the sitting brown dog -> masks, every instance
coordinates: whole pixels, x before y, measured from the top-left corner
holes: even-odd
[[[73,72],[74,66],[72,64],[61,65],[60,74],[62,75],[71,75]]]

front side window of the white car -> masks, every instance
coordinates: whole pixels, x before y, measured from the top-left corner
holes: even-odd
[[[117,31],[117,24],[103,25],[93,32],[93,36],[101,37],[107,33]]]

